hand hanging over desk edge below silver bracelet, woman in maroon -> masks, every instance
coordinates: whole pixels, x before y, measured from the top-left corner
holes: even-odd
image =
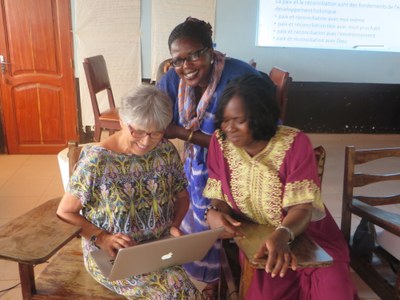
[[[275,277],[276,275],[284,277],[289,268],[296,271],[297,258],[290,250],[285,231],[274,231],[265,243],[263,243],[255,254],[255,257],[265,257],[266,253],[267,262],[265,264],[265,272],[271,273],[271,277]]]

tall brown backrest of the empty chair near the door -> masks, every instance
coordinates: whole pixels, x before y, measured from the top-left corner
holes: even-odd
[[[114,95],[111,89],[106,61],[104,60],[103,55],[87,57],[83,60],[83,68],[85,69],[93,113],[95,118],[98,118],[100,116],[99,105],[97,102],[97,94],[99,92],[107,91],[110,108],[115,108]]]

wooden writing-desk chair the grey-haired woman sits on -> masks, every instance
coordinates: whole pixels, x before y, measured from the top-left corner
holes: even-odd
[[[80,148],[69,143],[70,170]],[[0,227],[0,259],[18,263],[22,297],[31,299],[125,299],[97,283],[83,265],[80,227],[60,220],[61,198],[51,199]],[[34,266],[48,265],[35,277]]]

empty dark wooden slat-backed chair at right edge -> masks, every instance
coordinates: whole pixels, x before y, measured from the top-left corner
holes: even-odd
[[[393,270],[394,257],[382,247],[376,246],[372,260],[357,255],[351,242],[352,216],[358,216],[370,223],[400,237],[400,215],[394,213],[393,205],[400,205],[400,192],[388,194],[385,184],[396,183],[400,186],[400,172],[380,171],[379,160],[390,159],[390,164],[400,162],[399,148],[356,149],[348,146],[345,149],[343,203],[341,230],[349,242],[351,267],[378,294],[381,299],[400,299],[400,269]],[[382,160],[380,161],[382,162]],[[368,164],[373,164],[374,171],[368,171]],[[377,167],[378,166],[378,167]],[[372,168],[369,168],[372,170]],[[383,186],[382,186],[383,185]],[[378,192],[371,192],[374,188]],[[392,206],[392,207],[391,207]],[[353,220],[354,221],[354,220]]]

